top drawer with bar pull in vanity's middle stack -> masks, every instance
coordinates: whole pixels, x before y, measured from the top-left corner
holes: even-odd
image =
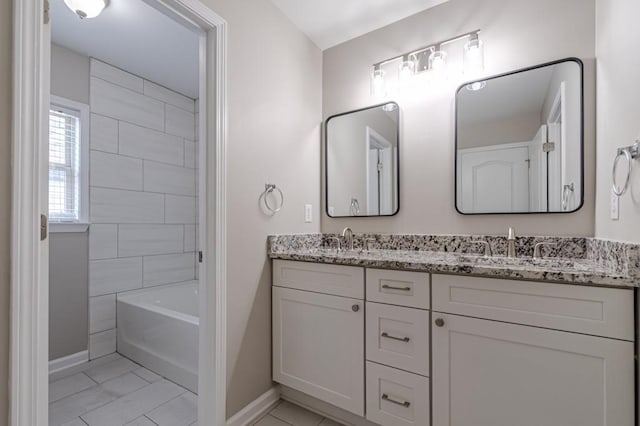
[[[429,274],[367,268],[367,300],[429,309]]]

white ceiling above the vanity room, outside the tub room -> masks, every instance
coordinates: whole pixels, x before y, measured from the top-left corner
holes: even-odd
[[[448,0],[272,0],[322,50]]]

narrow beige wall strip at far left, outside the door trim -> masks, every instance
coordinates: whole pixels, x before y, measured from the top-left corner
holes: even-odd
[[[11,223],[12,2],[0,0],[0,425],[9,418],[9,230]]]

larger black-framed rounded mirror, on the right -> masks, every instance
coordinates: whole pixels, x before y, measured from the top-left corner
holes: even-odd
[[[565,59],[456,93],[456,209],[569,213],[583,203],[583,73]]]

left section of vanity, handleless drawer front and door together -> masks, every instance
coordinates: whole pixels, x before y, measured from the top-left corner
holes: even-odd
[[[364,269],[274,260],[273,379],[364,416]]]

